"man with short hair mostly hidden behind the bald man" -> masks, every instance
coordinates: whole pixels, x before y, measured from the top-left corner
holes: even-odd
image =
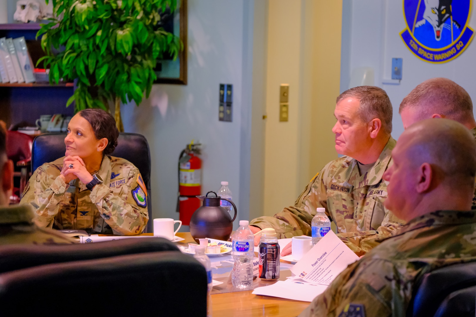
[[[398,109],[403,127],[428,118],[447,118],[466,126],[476,139],[476,120],[473,101],[465,88],[448,78],[431,78],[416,86]],[[476,184],[473,197],[476,210]]]

